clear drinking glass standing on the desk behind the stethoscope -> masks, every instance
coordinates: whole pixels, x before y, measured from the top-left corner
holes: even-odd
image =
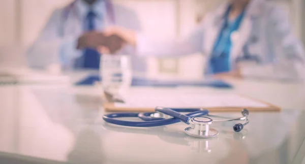
[[[101,56],[100,76],[104,90],[124,95],[132,81],[130,56],[104,54]]]

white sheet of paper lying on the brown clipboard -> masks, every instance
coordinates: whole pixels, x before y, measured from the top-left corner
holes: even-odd
[[[265,108],[267,104],[238,94],[182,94],[182,95],[131,95],[125,104],[115,103],[116,108]]]

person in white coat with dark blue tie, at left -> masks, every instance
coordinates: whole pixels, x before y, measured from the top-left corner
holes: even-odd
[[[27,51],[28,64],[39,69],[54,63],[64,69],[99,69],[100,54],[92,44],[105,42],[102,31],[113,25],[141,30],[136,14],[111,0],[75,0],[52,13]],[[134,48],[130,46],[117,53],[133,52]],[[133,56],[132,61],[134,69],[145,69],[144,59]]]

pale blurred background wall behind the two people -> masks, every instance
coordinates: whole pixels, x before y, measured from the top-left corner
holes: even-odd
[[[24,65],[26,50],[38,37],[50,14],[72,0],[1,0],[0,1],[0,65]],[[275,1],[289,15],[296,36],[305,42],[305,1]],[[134,10],[143,32],[156,39],[182,37],[188,34],[205,14],[224,0],[115,0],[114,3]],[[147,74],[151,77],[202,77],[203,56],[192,54],[178,59],[147,58]]]

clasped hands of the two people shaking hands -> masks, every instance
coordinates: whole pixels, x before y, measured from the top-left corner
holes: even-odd
[[[121,27],[105,31],[88,31],[78,38],[77,49],[91,48],[100,53],[114,54],[126,44],[135,45],[135,32]]]

